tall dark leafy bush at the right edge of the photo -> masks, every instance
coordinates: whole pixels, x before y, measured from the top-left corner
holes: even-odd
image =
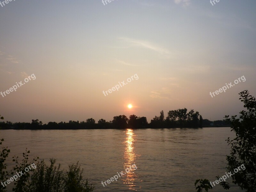
[[[236,133],[236,138],[226,141],[231,146],[230,155],[227,156],[227,171],[233,172],[237,167],[244,164],[245,170],[232,175],[232,183],[238,185],[246,192],[255,192],[256,188],[256,99],[249,94],[248,90],[239,93],[244,108],[240,112],[239,119],[236,116],[225,116],[231,124],[231,131]],[[219,179],[219,176],[217,176]],[[198,180],[196,180],[198,182]],[[220,182],[224,189],[229,189],[229,183]]]

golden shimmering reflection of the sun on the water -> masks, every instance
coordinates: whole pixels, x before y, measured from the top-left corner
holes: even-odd
[[[124,169],[130,168],[131,165],[136,165],[136,157],[138,155],[135,154],[134,151],[134,142],[135,142],[135,135],[132,129],[126,130],[126,140],[125,140],[125,151],[124,151]],[[136,165],[137,166],[137,165]],[[127,172],[123,177],[124,184],[131,190],[135,189],[135,179],[138,178],[138,174],[136,174],[137,170]]]

